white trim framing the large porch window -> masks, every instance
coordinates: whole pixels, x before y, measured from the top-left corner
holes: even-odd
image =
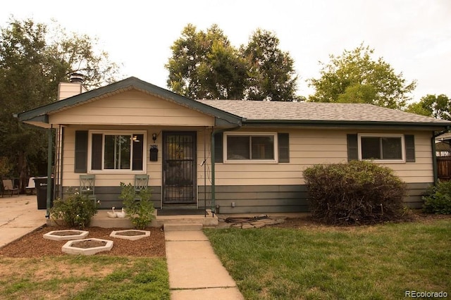
[[[104,153],[105,153],[105,143],[102,139],[101,143],[101,170],[92,170],[92,135],[102,134],[102,135],[144,135],[143,149],[142,149],[142,170],[131,170],[131,169],[105,169],[104,170]],[[88,141],[87,141],[87,164],[88,172],[91,174],[146,174],[147,173],[147,131],[143,130],[89,130]],[[130,167],[132,164],[130,164]]]

